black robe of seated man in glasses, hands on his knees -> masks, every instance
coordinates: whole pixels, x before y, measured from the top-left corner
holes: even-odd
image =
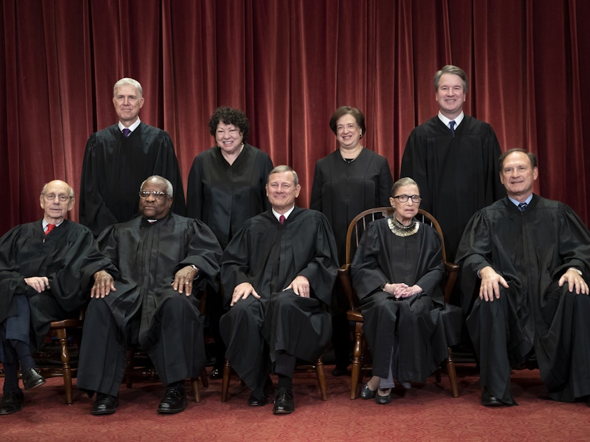
[[[125,371],[127,346],[137,343],[150,356],[163,383],[198,376],[205,352],[197,295],[206,282],[215,287],[221,256],[211,229],[175,213],[153,223],[138,216],[107,227],[98,238],[98,247],[105,261],[85,266],[83,273],[109,271],[114,274],[116,291],[89,303],[78,388],[116,395]],[[186,296],[174,291],[172,281],[178,270],[191,264],[199,268],[199,277],[192,294]],[[160,310],[170,299],[179,314],[164,322]],[[176,305],[178,302],[183,307]],[[99,329],[108,324],[111,331],[101,338]],[[172,345],[162,344],[169,343],[162,336],[167,329],[177,337]]]

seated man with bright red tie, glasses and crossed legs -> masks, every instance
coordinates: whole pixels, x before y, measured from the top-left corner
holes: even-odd
[[[0,362],[4,369],[0,415],[22,409],[25,390],[45,379],[32,354],[50,323],[77,318],[86,303],[80,281],[84,258],[96,251],[92,232],[66,220],[74,191],[63,181],[50,181],[39,197],[43,219],[21,224],[0,238]]]

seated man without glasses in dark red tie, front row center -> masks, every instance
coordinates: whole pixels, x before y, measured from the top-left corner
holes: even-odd
[[[266,183],[271,210],[245,222],[222,255],[221,282],[230,307],[220,320],[226,357],[252,390],[250,406],[268,402],[273,363],[275,414],[295,411],[296,358],[316,360],[331,338],[326,306],[338,253],[326,217],[295,206],[300,191],[293,169],[275,167]]]

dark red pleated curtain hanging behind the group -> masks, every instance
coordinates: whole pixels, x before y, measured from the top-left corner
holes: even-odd
[[[465,111],[504,150],[537,153],[536,192],[590,220],[587,0],[4,0],[0,14],[0,234],[40,218],[43,183],[78,192],[121,77],[142,83],[142,121],[170,133],[185,185],[213,145],[209,116],[230,105],[253,145],[298,172],[307,206],[315,162],[336,146],[335,108],[363,110],[365,146],[398,178],[448,63],[469,75]]]

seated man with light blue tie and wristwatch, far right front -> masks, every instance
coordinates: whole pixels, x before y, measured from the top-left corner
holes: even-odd
[[[533,352],[550,398],[587,400],[590,231],[565,204],[534,195],[533,153],[510,149],[499,165],[508,197],[471,218],[457,254],[481,404],[515,405],[510,368]]]

